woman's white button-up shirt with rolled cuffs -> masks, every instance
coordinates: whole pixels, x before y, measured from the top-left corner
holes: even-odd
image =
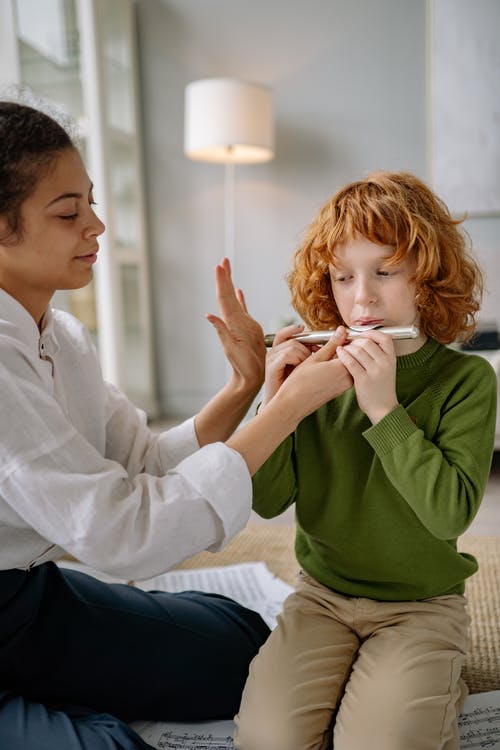
[[[33,318],[0,289],[0,569],[66,551],[134,579],[219,549],[248,520],[251,479],[194,420],[159,435],[102,379],[71,315]]]

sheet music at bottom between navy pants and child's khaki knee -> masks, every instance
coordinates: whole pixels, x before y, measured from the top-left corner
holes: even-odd
[[[135,721],[130,726],[157,750],[234,750],[234,722],[230,720],[199,724]]]

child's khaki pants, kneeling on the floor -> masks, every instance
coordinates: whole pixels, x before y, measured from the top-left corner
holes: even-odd
[[[458,750],[465,597],[380,602],[305,573],[254,658],[242,750]]]

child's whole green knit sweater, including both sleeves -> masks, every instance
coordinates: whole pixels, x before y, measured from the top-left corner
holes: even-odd
[[[384,601],[464,592],[456,540],[491,464],[497,380],[483,358],[429,339],[397,359],[399,406],[371,425],[354,388],[304,419],[257,472],[253,507],[295,502],[301,567],[335,591]]]

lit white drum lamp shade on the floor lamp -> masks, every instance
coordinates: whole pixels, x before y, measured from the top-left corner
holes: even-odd
[[[205,78],[186,87],[184,153],[190,159],[251,164],[273,158],[274,122],[266,86]]]

